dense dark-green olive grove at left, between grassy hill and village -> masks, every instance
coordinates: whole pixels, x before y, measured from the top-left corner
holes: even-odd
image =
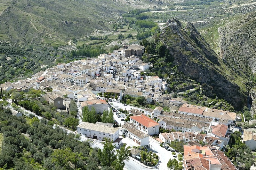
[[[58,51],[46,47],[21,47],[0,41],[0,82],[27,78],[45,67],[54,66]]]

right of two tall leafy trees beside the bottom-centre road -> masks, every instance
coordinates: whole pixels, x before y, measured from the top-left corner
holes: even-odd
[[[130,154],[130,146],[125,148],[124,144],[121,146],[120,149],[116,150],[116,157],[117,159],[114,161],[114,168],[115,170],[123,170],[124,169],[124,160],[129,160],[129,154]]]

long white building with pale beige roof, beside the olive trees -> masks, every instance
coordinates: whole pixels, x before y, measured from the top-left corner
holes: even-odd
[[[122,138],[118,137],[118,128],[84,122],[77,126],[77,134],[100,141],[108,138],[109,140],[113,140],[113,144],[116,144],[116,147],[122,144]]]

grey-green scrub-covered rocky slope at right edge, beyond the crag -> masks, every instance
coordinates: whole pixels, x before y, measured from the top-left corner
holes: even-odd
[[[220,27],[220,58],[238,74],[256,72],[256,12],[246,14]]]

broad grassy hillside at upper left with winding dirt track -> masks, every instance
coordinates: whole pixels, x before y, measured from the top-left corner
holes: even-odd
[[[140,4],[153,3],[143,0]],[[113,0],[5,0],[0,2],[0,39],[64,45],[71,38],[88,36],[96,29],[112,30],[112,23],[120,22],[118,14],[134,9],[134,5]]]

